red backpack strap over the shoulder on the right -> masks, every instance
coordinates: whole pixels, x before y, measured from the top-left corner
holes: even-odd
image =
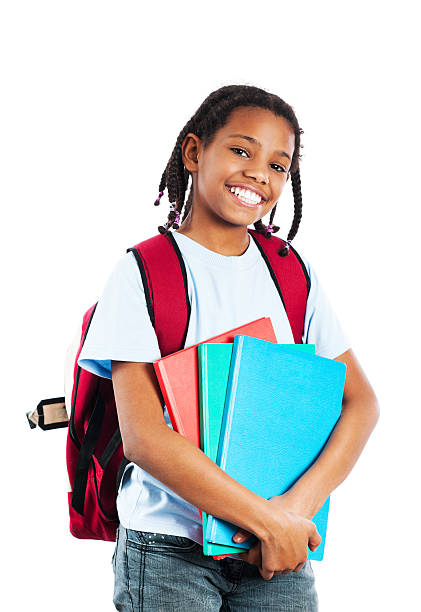
[[[275,283],[284,305],[295,344],[302,343],[310,277],[297,251],[290,246],[288,257],[279,251],[286,242],[277,236],[266,238],[256,230],[249,229]]]

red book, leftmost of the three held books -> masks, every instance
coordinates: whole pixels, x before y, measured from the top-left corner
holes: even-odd
[[[197,347],[204,342],[234,342],[236,334],[277,343],[272,321],[269,317],[262,317],[209,340],[161,357],[153,363],[174,430],[193,442],[198,448],[200,448],[200,421]],[[202,516],[200,508],[198,510]],[[227,556],[214,555],[213,558],[223,559]]]

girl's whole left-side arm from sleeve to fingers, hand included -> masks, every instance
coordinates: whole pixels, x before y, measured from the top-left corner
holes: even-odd
[[[321,538],[310,520],[279,508],[231,478],[165,422],[151,363],[111,361],[124,454],[188,502],[257,536],[259,572],[299,571]]]

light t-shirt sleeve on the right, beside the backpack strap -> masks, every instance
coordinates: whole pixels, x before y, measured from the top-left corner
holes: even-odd
[[[335,359],[351,348],[319,278],[309,262],[301,257],[310,277],[310,292],[304,321],[303,343],[314,344],[316,355]]]

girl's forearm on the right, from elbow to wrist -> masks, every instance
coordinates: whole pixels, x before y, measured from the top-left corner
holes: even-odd
[[[341,416],[317,461],[290,489],[300,511],[312,519],[324,502],[345,480],[378,420],[375,396],[345,402]]]

